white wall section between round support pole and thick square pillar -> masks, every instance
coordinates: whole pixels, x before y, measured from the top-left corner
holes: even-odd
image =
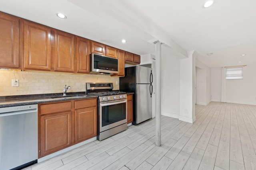
[[[162,57],[161,65],[161,114],[179,118],[180,59]]]

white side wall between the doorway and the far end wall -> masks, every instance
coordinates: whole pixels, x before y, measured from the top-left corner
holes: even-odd
[[[197,100],[196,104],[208,105],[211,102],[211,69],[196,60],[197,66]]]

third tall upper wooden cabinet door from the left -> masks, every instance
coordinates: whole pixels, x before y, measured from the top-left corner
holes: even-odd
[[[56,71],[75,71],[75,35],[54,31],[55,68]]]

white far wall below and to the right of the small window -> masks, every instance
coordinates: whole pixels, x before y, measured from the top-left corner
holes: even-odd
[[[228,103],[256,105],[256,64],[243,67],[243,79],[226,80]]]

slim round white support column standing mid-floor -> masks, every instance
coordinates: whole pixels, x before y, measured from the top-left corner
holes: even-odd
[[[157,147],[161,146],[161,42],[156,44],[156,141]]]

